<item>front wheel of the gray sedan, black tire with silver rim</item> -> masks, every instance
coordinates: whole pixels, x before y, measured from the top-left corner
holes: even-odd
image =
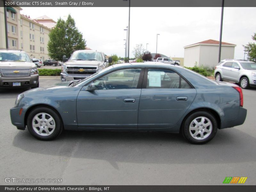
[[[34,120],[34,122],[33,122],[34,117],[37,116],[38,118],[40,118],[39,114],[41,114],[41,113],[45,114],[45,121],[44,121],[45,123],[43,121],[41,121],[41,122],[43,122],[42,126],[45,126],[45,129],[43,129],[41,126],[43,131],[40,134],[41,128],[38,128],[39,127],[38,126],[34,129],[32,123],[41,124],[41,122],[37,122],[37,120]],[[47,120],[50,119],[50,118],[47,119],[47,117],[52,117],[53,120],[51,122],[47,122]],[[43,116],[42,116],[41,120],[43,120]],[[54,129],[47,127],[48,124],[50,124],[51,126],[54,125],[55,126]],[[62,129],[63,129],[61,117],[53,109],[48,108],[48,107],[38,107],[38,108],[33,109],[28,114],[27,125],[28,125],[28,131],[30,132],[30,134],[39,140],[53,140],[58,135],[60,135],[60,133],[62,132]],[[46,129],[48,130],[49,134],[47,134],[47,132],[44,131]],[[43,135],[43,134],[45,134],[45,135]]]

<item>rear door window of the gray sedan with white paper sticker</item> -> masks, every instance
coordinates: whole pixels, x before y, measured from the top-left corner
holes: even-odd
[[[147,89],[190,89],[188,82],[169,69],[148,69]]]

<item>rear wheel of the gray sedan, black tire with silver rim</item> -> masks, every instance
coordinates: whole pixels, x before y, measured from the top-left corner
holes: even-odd
[[[203,120],[202,117],[204,117],[205,119],[204,123],[198,122],[198,120],[200,119]],[[194,120],[196,120],[198,124],[194,123],[195,122]],[[211,124],[206,126],[209,122]],[[204,127],[204,125],[206,127]],[[194,127],[197,130],[190,130],[189,128],[190,126]],[[206,129],[208,130],[207,132],[206,132]],[[217,130],[218,130],[218,124],[215,117],[211,113],[206,111],[196,111],[195,113],[189,115],[185,119],[181,127],[183,137],[193,144],[204,144],[209,142],[216,135]],[[192,134],[194,135],[194,137],[192,136]],[[203,134],[203,138],[201,134]]]

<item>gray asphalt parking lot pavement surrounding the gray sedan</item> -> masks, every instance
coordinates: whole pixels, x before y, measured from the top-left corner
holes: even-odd
[[[40,86],[57,82],[40,77]],[[226,177],[256,184],[256,89],[243,90],[244,124],[218,130],[204,145],[156,132],[64,131],[53,141],[36,140],[10,120],[9,109],[27,89],[0,89],[0,185],[24,184],[5,183],[6,177],[62,179],[27,183],[35,185],[222,185]]]

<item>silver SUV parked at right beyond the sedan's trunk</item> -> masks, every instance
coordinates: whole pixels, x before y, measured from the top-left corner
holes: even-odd
[[[256,87],[256,63],[247,60],[222,60],[214,71],[216,81],[228,80],[240,87]]]

